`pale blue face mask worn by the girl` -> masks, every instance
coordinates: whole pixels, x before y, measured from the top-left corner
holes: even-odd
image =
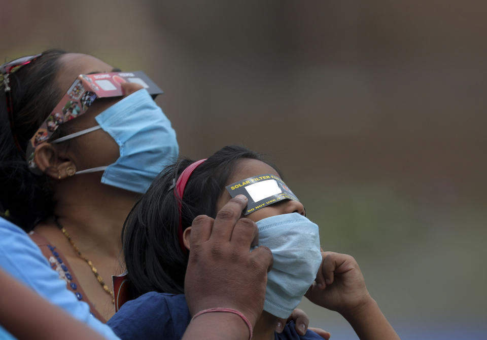
[[[294,212],[257,221],[259,246],[272,251],[264,311],[286,319],[299,305],[321,265],[318,225]]]

